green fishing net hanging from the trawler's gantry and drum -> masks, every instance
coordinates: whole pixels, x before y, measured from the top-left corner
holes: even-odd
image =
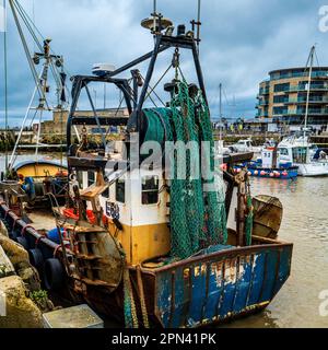
[[[173,152],[166,149],[172,255],[184,259],[211,245],[226,244],[223,180],[215,170],[210,112],[201,91],[190,94],[186,81],[180,81],[169,108],[149,108],[143,113],[148,121],[144,141],[175,144]],[[207,147],[202,141],[208,141]],[[178,155],[183,147],[187,152],[185,171],[180,173]],[[202,176],[195,176],[195,168],[201,170]]]

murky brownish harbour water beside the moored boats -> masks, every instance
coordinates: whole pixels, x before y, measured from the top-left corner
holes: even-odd
[[[33,156],[20,155],[21,161]],[[58,159],[43,154],[42,159]],[[1,171],[4,158],[0,158]],[[253,195],[280,198],[284,214],[280,240],[294,243],[292,273],[269,307],[224,327],[328,327],[319,294],[328,290],[328,178],[251,179]]]

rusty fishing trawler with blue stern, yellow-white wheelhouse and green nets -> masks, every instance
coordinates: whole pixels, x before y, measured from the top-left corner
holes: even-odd
[[[27,224],[15,210],[15,194],[5,199],[8,184],[0,185],[1,220],[11,237],[24,238],[45,288],[66,293],[77,303],[86,301],[125,320],[126,327],[190,328],[258,312],[268,306],[291,270],[293,245],[277,236],[258,236],[253,226],[257,215],[270,214],[270,200],[255,210],[247,172],[233,173],[234,163],[250,160],[253,153],[225,156],[226,171],[218,173],[200,39],[195,35],[200,20],[192,23],[187,33],[179,25],[175,35],[173,23],[154,9],[152,18],[142,21],[155,39],[151,52],[114,71],[73,78],[67,124],[67,206],[60,207],[50,196],[56,240],[54,231],[50,235],[35,229],[36,222]],[[148,107],[155,93],[150,88],[155,65],[169,50],[167,72],[174,79],[164,84],[169,103]],[[187,83],[183,50],[192,55],[197,82]],[[136,67],[149,59],[143,78]],[[91,83],[117,86],[130,118],[99,117]],[[75,113],[82,92],[92,117]],[[80,143],[73,138],[75,126],[83,127]],[[90,147],[87,128],[92,126],[119,126],[121,140],[107,144],[104,133],[97,148]],[[167,142],[178,141],[177,149],[167,149]],[[186,174],[180,177],[177,153],[189,142],[194,153],[187,152]],[[200,155],[201,142],[210,147],[194,164],[208,160],[202,166],[207,172],[195,177],[188,162]],[[155,156],[149,161],[151,150]],[[163,167],[165,159],[168,166]],[[232,208],[235,190],[237,207]],[[235,228],[229,230],[233,210]]]

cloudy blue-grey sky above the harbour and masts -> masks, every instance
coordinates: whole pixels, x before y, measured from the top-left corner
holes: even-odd
[[[55,51],[65,56],[71,74],[87,74],[95,62],[119,67],[152,49],[151,35],[140,26],[152,11],[152,0],[20,2],[43,35],[52,38]],[[325,4],[318,0],[202,0],[201,62],[212,116],[219,114],[220,82],[224,115],[250,118],[256,114],[258,83],[268,78],[270,70],[303,67],[314,44],[319,63],[328,66],[328,32],[319,31],[319,9]],[[197,0],[157,0],[157,8],[176,25],[189,26],[196,18]],[[10,12],[8,42],[10,121],[17,125],[34,85]],[[2,33],[0,45],[3,124]],[[169,63],[171,58],[166,59]],[[184,69],[188,72],[191,65],[189,57],[186,59]],[[157,74],[167,62],[159,63]]]

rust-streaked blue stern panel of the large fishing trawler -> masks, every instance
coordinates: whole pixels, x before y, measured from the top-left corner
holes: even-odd
[[[154,313],[161,325],[194,328],[265,308],[291,270],[292,245],[271,242],[157,269]]]

